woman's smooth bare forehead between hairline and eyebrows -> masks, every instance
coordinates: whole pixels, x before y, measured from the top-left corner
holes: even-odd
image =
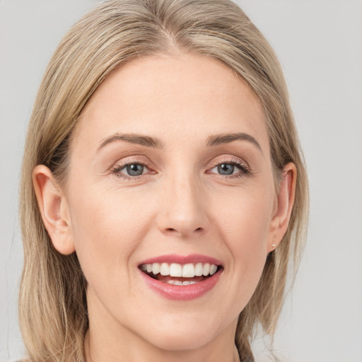
[[[200,141],[247,132],[269,147],[257,95],[225,64],[194,54],[136,59],[112,71],[81,112],[73,139],[96,147],[117,132]],[[83,145],[84,146],[84,145]]]

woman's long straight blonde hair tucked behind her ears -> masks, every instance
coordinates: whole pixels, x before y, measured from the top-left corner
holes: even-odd
[[[21,227],[24,269],[19,317],[33,361],[83,361],[88,328],[86,281],[76,253],[52,247],[35,199],[32,171],[47,165],[66,181],[69,137],[95,89],[125,62],[151,54],[183,52],[214,57],[258,95],[267,129],[276,188],[284,165],[298,177],[291,221],[267,257],[262,278],[240,313],[235,343],[242,361],[260,323],[274,334],[286,286],[288,261],[298,266],[308,218],[308,180],[284,76],[267,40],[228,0],[111,0],[81,18],[54,52],[37,93],[23,158]]]

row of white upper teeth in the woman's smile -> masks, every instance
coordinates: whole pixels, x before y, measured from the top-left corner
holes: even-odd
[[[148,273],[169,276],[182,276],[185,278],[193,278],[194,276],[214,275],[218,267],[215,264],[197,263],[197,264],[177,264],[177,263],[153,263],[142,264],[141,269]]]

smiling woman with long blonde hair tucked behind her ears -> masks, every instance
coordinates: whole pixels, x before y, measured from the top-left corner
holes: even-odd
[[[267,41],[227,0],[112,0],[30,119],[20,318],[32,361],[248,361],[308,187]]]

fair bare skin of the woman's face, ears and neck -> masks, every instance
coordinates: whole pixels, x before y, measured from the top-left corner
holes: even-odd
[[[84,107],[66,185],[35,168],[52,243],[76,251],[88,281],[86,361],[238,361],[238,315],[286,232],[296,183],[288,164],[276,194],[264,117],[255,93],[216,59],[137,59],[113,71]],[[259,146],[207,146],[226,133]],[[163,147],[110,141],[119,134],[157,137]],[[250,173],[235,165],[233,175],[220,174],[217,165],[235,162]],[[124,178],[127,163],[145,164],[144,173]],[[195,253],[223,263],[200,298],[168,300],[141,278],[145,259]]]

